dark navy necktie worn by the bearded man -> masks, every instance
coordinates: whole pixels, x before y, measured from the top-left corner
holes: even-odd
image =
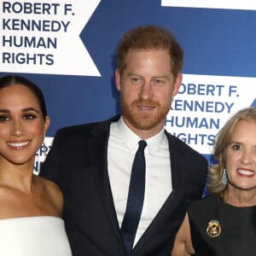
[[[146,148],[146,146],[147,143],[145,141],[139,141],[139,148],[137,149],[137,153],[135,154],[132,164],[128,200],[125,216],[121,226],[126,253],[128,255],[131,253],[137,232],[137,226],[143,210],[146,170],[144,148]]]

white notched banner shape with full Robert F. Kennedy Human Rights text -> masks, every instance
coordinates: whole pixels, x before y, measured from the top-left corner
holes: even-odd
[[[0,72],[101,76],[79,34],[101,0],[3,1]]]

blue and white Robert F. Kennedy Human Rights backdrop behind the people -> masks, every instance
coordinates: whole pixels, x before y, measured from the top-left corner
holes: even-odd
[[[256,3],[251,0],[1,1],[0,75],[31,79],[44,91],[55,131],[120,113],[115,47],[131,27],[165,26],[184,49],[183,84],[166,130],[211,160],[231,114],[256,106]]]

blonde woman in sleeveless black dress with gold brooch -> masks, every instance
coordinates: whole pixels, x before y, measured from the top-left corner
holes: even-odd
[[[218,132],[211,195],[193,202],[172,256],[254,256],[256,252],[256,108],[244,108]]]

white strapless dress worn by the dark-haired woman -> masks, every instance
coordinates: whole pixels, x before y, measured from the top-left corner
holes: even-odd
[[[1,256],[71,256],[64,221],[51,216],[0,219]]]

